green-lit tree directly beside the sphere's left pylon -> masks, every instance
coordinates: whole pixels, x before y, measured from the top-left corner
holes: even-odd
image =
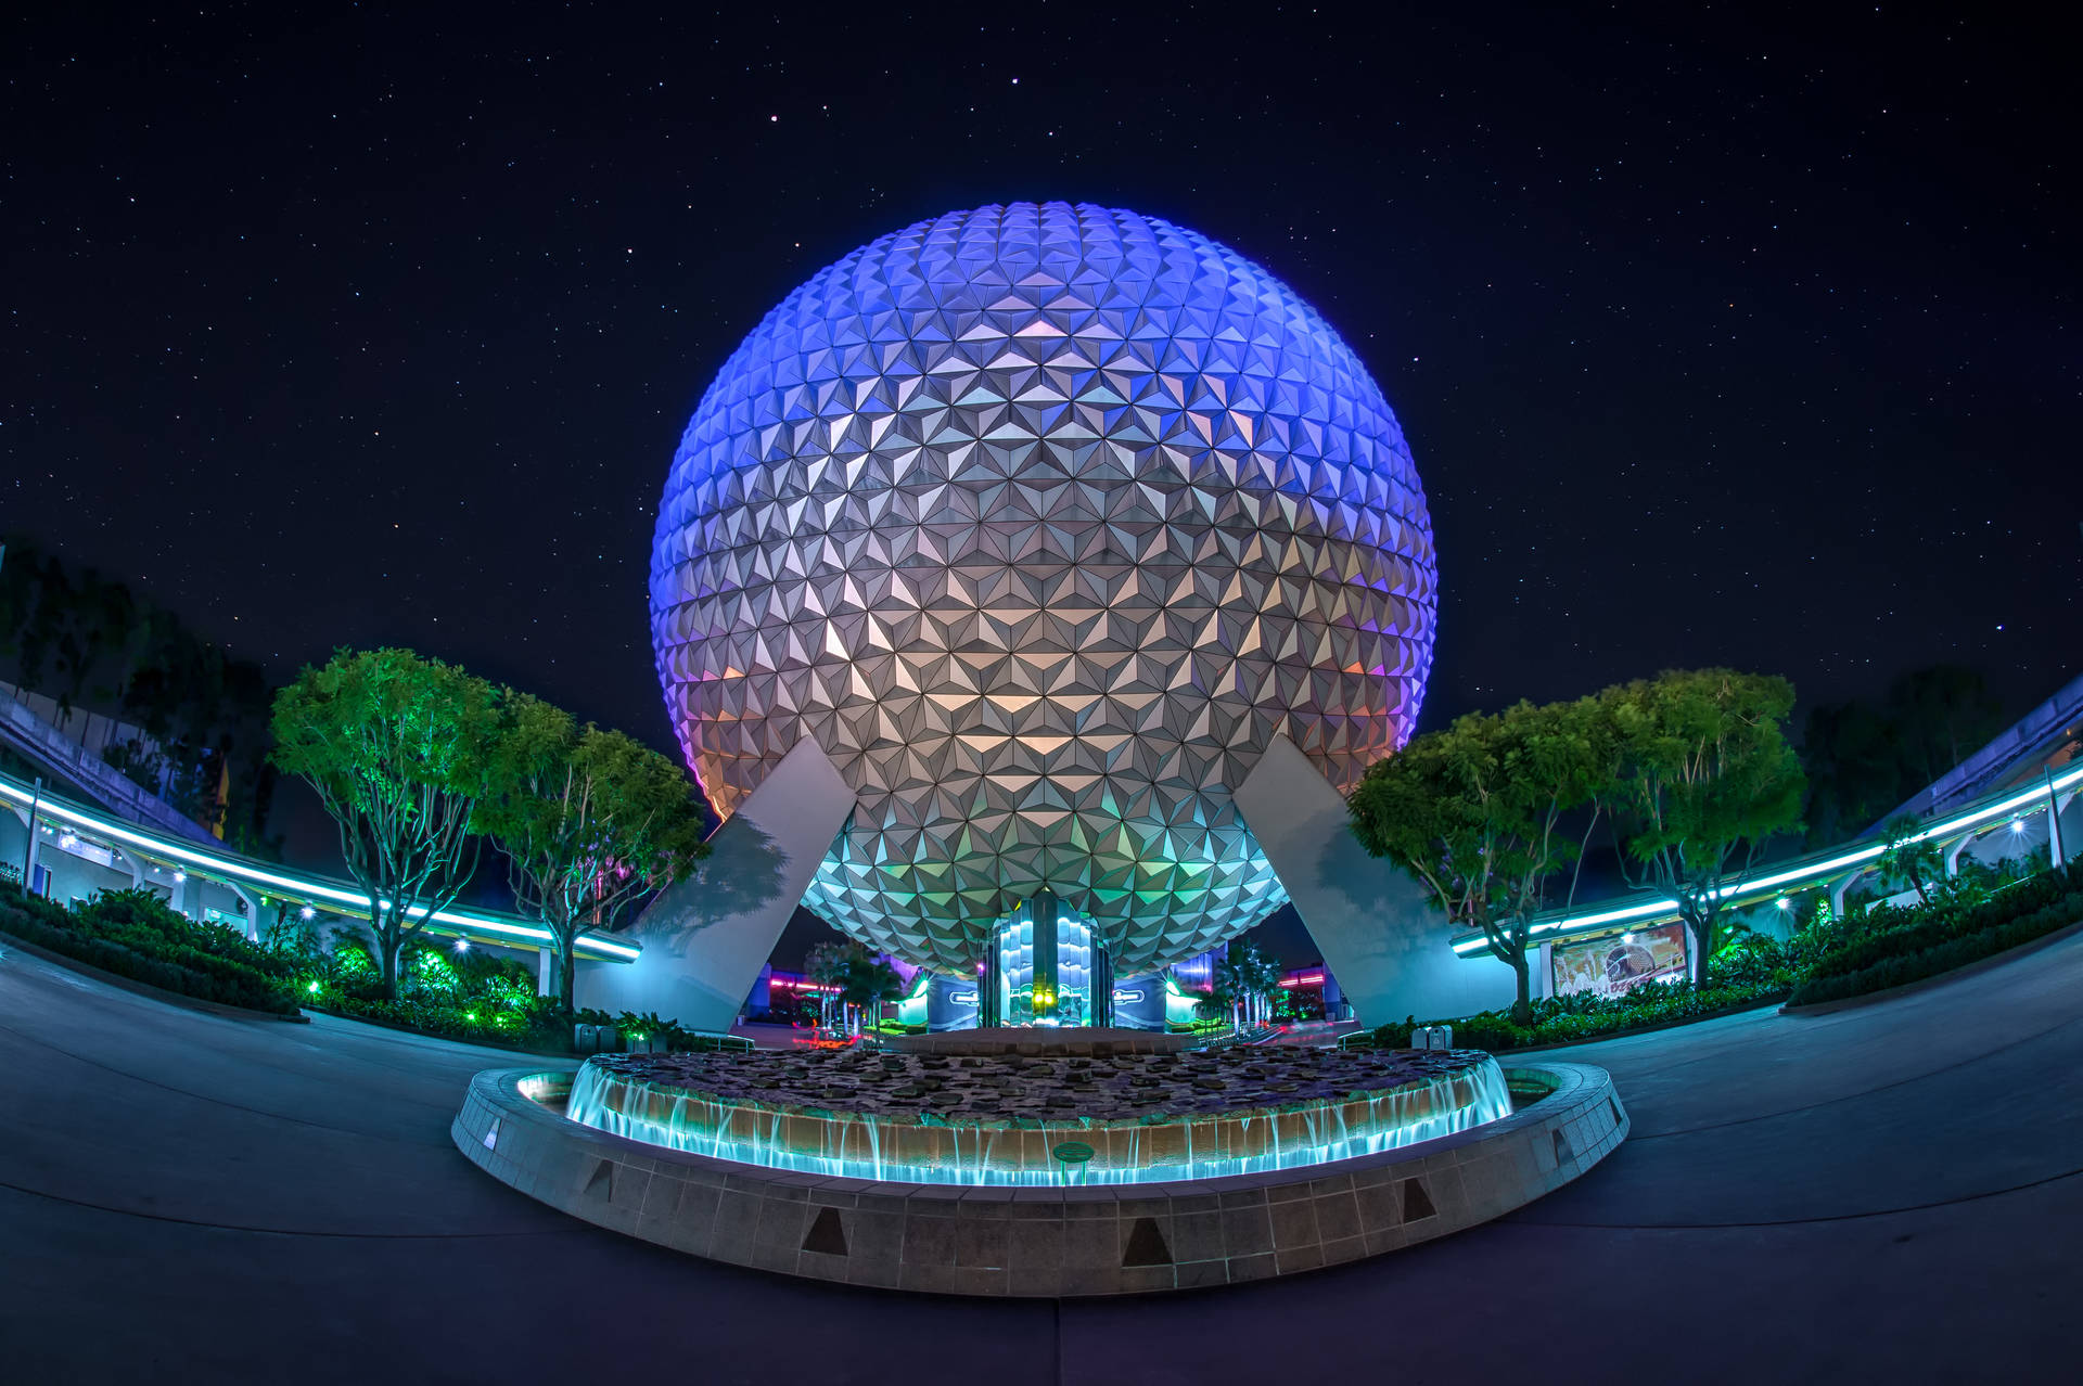
[[[508,862],[521,907],[550,930],[556,995],[573,1003],[575,947],[708,855],[685,770],[617,730],[506,693],[477,826]]]

